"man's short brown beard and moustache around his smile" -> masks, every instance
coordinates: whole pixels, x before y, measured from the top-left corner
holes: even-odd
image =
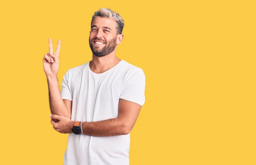
[[[93,42],[95,40],[98,40],[98,41],[102,41],[102,40],[100,40],[99,38],[94,38],[90,41],[90,37],[89,37],[90,49],[92,50],[93,55],[96,55],[97,57],[103,57],[105,55],[108,55],[111,52],[113,52],[116,48],[116,38],[113,38],[108,42],[102,41],[105,43],[105,46],[102,46],[102,48],[101,46],[93,45]]]

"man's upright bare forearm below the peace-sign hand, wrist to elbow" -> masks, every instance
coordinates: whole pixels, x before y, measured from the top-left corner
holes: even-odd
[[[69,113],[62,97],[58,84],[57,75],[47,75],[47,83],[49,90],[49,106],[52,114],[65,116],[70,119]]]

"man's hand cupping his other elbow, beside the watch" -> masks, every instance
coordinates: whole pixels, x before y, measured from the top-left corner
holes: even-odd
[[[51,123],[53,128],[57,130],[59,133],[73,133],[72,128],[75,122],[72,120],[58,115],[50,115]],[[54,122],[54,120],[58,120],[58,122]]]

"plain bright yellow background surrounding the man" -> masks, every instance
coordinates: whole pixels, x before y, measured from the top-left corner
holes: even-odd
[[[125,20],[117,57],[146,75],[130,165],[255,165],[254,2],[1,1],[0,164],[63,163],[42,59],[61,39],[59,84],[90,61],[91,17],[107,7]]]

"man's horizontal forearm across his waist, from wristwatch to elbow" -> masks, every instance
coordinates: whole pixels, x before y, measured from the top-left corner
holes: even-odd
[[[130,133],[128,125],[119,118],[82,124],[83,134],[90,136],[118,136]]]

